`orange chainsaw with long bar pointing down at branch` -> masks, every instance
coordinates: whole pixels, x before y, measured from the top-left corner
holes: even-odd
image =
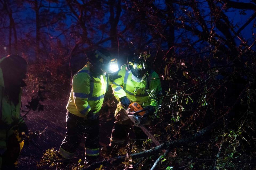
[[[140,104],[134,102],[129,105],[128,109],[126,110],[126,113],[130,120],[134,123],[134,126],[141,128],[141,130],[152,140],[152,142],[156,146],[159,146],[161,144],[158,142],[158,140],[141,123],[141,118],[146,114],[146,110],[148,109],[143,109],[143,107]]]

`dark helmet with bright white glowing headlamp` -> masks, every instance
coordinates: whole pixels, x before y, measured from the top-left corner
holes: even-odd
[[[118,71],[117,59],[115,59],[109,50],[97,49],[92,51],[91,64],[104,73],[113,73]]]

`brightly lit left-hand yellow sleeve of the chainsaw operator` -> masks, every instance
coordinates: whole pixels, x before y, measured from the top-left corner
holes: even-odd
[[[122,76],[118,79],[115,79],[113,82],[112,82],[112,90],[113,90],[113,93],[114,93],[114,96],[115,98],[117,98],[117,101],[119,102],[120,101],[120,98],[121,97],[124,97],[126,96],[126,93],[125,91],[123,90],[123,79],[124,79],[124,76],[125,76],[125,72],[126,72],[126,67],[123,66],[121,68],[121,70],[118,72],[118,75]]]

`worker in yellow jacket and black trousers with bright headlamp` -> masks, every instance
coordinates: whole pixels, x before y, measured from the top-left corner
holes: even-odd
[[[88,56],[90,62],[79,70],[72,80],[72,89],[67,103],[66,136],[58,156],[70,159],[82,137],[85,136],[85,163],[99,156],[99,111],[107,90],[108,73],[118,71],[117,59],[106,49],[97,49]],[[65,162],[57,169],[66,169]]]

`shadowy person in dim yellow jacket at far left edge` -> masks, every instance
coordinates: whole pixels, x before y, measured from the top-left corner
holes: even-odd
[[[19,55],[0,60],[0,169],[16,169],[23,147],[21,132],[28,132],[20,115],[22,87],[26,86],[27,62]]]

